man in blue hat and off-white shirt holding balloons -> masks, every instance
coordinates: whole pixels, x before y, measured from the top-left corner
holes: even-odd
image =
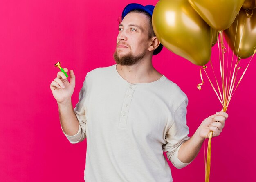
[[[186,95],[152,66],[152,56],[162,50],[152,28],[153,8],[124,8],[117,64],[88,72],[74,110],[74,72],[70,83],[62,72],[51,83],[63,133],[73,144],[87,138],[86,182],[172,182],[163,151],[175,167],[185,167],[205,136],[218,136],[228,117],[217,112],[188,137]]]

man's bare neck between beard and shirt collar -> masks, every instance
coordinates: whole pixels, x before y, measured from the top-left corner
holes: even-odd
[[[152,61],[144,60],[131,66],[117,64],[117,72],[131,84],[150,83],[157,81],[162,77],[162,75],[153,67]]]

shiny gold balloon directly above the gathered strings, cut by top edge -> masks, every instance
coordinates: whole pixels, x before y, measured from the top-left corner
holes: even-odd
[[[196,12],[213,29],[225,30],[241,9],[245,0],[188,0]]]

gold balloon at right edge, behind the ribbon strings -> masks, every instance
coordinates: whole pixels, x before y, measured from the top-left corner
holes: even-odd
[[[237,23],[238,25],[236,28]],[[250,57],[254,53],[254,47],[256,46],[256,13],[250,17],[247,15],[245,9],[240,9],[239,14],[237,15],[233,24],[229,27],[229,29],[225,30],[224,33],[227,42],[229,38],[229,47],[233,50],[235,46],[235,55],[238,55],[238,57],[241,58]],[[241,43],[239,48],[240,39]]]

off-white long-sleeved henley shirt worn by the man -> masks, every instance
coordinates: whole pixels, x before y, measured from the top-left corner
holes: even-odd
[[[189,139],[187,96],[164,75],[151,83],[131,84],[116,64],[88,72],[74,112],[78,133],[87,139],[85,182],[172,182],[164,157],[177,168],[182,143]]]

